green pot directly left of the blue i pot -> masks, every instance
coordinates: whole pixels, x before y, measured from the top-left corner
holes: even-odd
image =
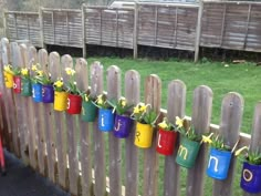
[[[97,107],[92,101],[83,101],[82,103],[82,121],[94,122],[97,114]]]

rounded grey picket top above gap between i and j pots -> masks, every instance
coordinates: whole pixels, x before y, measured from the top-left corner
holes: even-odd
[[[116,65],[107,69],[107,97],[118,100],[121,97],[121,70]]]

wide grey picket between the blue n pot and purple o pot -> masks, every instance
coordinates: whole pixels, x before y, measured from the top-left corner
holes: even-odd
[[[222,101],[219,135],[223,137],[225,144],[231,146],[231,148],[236,145],[239,138],[242,114],[242,96],[238,93],[227,94]],[[228,178],[225,180],[213,180],[213,196],[232,195],[236,163],[237,159],[232,156]]]

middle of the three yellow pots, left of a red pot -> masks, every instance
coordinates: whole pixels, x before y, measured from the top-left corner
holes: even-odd
[[[54,111],[66,111],[67,109],[67,93],[66,92],[54,92]]]

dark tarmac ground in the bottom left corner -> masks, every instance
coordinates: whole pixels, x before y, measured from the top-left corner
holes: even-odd
[[[7,176],[0,175],[0,196],[70,196],[10,153],[4,153]]]

